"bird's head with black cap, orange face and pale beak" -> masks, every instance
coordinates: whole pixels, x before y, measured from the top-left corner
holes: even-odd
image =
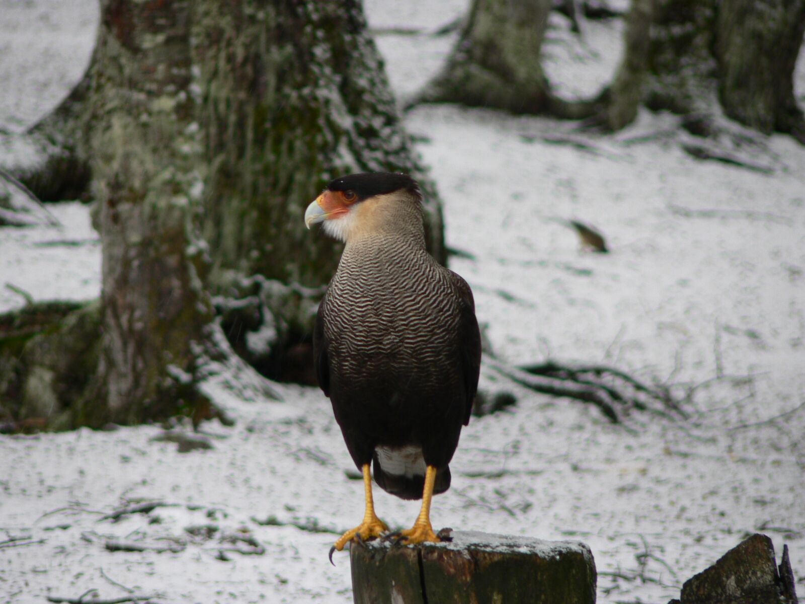
[[[331,180],[304,213],[308,226],[322,223],[333,238],[348,242],[361,234],[411,231],[424,238],[422,196],[411,176],[361,172]]]

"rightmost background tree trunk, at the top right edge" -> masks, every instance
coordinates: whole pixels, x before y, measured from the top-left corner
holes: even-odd
[[[805,144],[794,68],[805,32],[805,0],[725,0],[716,18],[718,97],[725,114],[766,134]]]

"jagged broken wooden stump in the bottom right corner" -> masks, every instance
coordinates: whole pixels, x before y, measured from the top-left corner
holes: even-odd
[[[682,585],[679,600],[668,604],[796,604],[794,573],[783,548],[779,568],[774,545],[755,534],[721,556],[716,564]]]

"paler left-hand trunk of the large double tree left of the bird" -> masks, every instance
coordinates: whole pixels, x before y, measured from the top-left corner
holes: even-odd
[[[93,395],[116,422],[166,416],[203,399],[193,387],[194,345],[213,311],[202,285],[204,247],[190,222],[205,176],[202,137],[192,126],[191,6],[101,6],[87,107],[103,246]]]

